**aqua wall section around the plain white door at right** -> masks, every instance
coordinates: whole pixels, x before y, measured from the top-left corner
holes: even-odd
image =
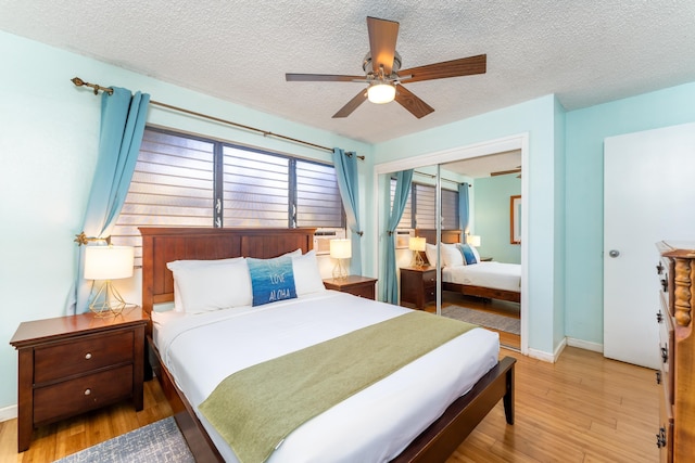
[[[567,336],[603,344],[604,139],[693,121],[695,82],[567,113]]]

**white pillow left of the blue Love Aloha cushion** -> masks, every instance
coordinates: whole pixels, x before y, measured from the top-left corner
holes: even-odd
[[[186,313],[251,306],[251,276],[244,259],[184,266],[174,271],[178,299]]]

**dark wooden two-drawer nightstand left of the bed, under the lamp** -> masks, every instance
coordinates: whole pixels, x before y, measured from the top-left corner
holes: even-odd
[[[10,344],[20,356],[17,446],[34,428],[124,399],[142,410],[144,329],[138,307],[23,322]]]

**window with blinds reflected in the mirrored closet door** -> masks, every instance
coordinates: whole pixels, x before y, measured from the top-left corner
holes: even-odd
[[[391,207],[395,194],[395,179],[391,179]],[[403,217],[399,222],[400,229],[434,229],[437,188],[424,183],[413,182]],[[442,230],[457,230],[458,222],[458,191],[442,188]]]

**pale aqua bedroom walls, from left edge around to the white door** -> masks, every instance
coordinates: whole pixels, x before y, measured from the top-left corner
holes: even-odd
[[[366,155],[359,164],[363,230],[377,229],[370,223],[378,208],[372,191],[376,159],[405,159],[527,133],[529,230],[528,256],[522,258],[529,265],[528,343],[548,353],[566,335],[603,343],[603,139],[695,121],[693,82],[569,113],[554,95],[546,95],[369,145],[5,33],[0,33],[0,60],[12,69],[0,75],[0,419],[4,408],[16,403],[16,352],[10,337],[22,321],[62,316],[74,279],[73,239],[80,231],[96,164],[100,105],[89,90],[70,82],[75,76]],[[330,159],[325,152],[156,107],[148,121]],[[364,256],[375,255],[376,243],[377,236],[365,235],[363,262],[369,261]],[[371,267],[365,269],[370,274]]]

